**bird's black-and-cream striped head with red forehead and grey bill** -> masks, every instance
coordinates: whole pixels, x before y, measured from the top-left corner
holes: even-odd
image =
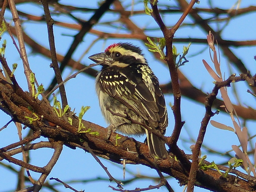
[[[147,60],[144,58],[139,47],[131,43],[114,43],[109,45],[103,53],[97,53],[89,57],[95,63],[100,65],[126,67],[132,64],[145,64]]]

